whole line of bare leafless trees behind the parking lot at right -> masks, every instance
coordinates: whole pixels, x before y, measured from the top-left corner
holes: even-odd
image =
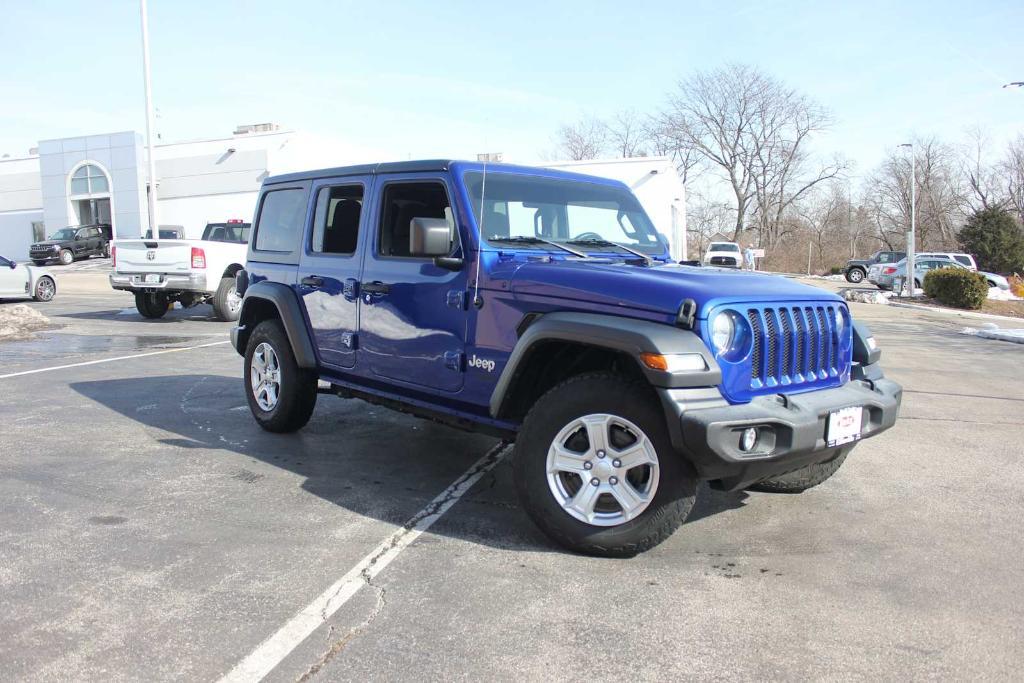
[[[775,269],[802,270],[809,253],[813,269],[827,270],[904,247],[911,164],[919,250],[961,249],[963,226],[982,211],[1006,212],[1018,227],[1024,220],[1024,135],[1005,150],[980,130],[955,142],[915,137],[907,140],[912,153],[894,145],[857,177],[843,157],[812,153],[834,122],[826,108],[758,68],[728,65],[681,80],[657,111],[560,126],[553,155],[671,158],[687,183],[691,253],[721,234],[764,248]],[[696,191],[698,176],[718,191]]]

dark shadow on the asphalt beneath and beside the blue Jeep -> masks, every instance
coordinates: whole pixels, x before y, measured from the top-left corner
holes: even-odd
[[[153,438],[188,451],[229,451],[302,477],[302,488],[370,518],[401,524],[499,444],[493,437],[394,413],[357,399],[321,396],[294,434],[260,429],[242,380],[173,375],[76,382],[79,394],[154,428]],[[485,546],[561,552],[529,521],[512,485],[508,453],[432,533]],[[238,469],[231,459],[224,467]],[[259,499],[253,493],[254,503]],[[745,495],[701,486],[690,521],[742,507]]]

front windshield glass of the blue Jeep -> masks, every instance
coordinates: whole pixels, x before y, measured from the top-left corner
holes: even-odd
[[[541,240],[583,243],[585,251],[604,251],[602,243],[623,245],[648,254],[664,253],[654,225],[632,193],[623,187],[580,180],[542,178],[515,173],[487,173],[483,216],[483,175],[465,175],[466,188],[483,238],[499,246],[515,238],[527,249],[549,249]],[[593,242],[594,244],[586,244]]]

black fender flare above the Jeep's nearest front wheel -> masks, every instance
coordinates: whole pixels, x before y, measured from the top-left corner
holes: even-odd
[[[715,356],[703,341],[689,330],[602,313],[546,313],[526,328],[512,349],[490,394],[492,417],[502,415],[506,396],[531,351],[538,344],[552,340],[625,352],[637,360],[644,376],[656,387],[709,387],[722,382],[722,370]],[[696,353],[703,357],[706,367],[703,370],[676,373],[651,370],[640,360],[641,353]]]

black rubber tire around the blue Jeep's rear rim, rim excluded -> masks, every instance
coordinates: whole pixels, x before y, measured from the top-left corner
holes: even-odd
[[[250,384],[253,353],[261,343],[269,344],[273,349],[281,371],[278,403],[270,411],[259,407]],[[309,422],[316,407],[316,374],[299,368],[285,328],[276,318],[263,321],[249,336],[242,383],[249,410],[259,426],[269,432],[286,433],[301,429]]]

